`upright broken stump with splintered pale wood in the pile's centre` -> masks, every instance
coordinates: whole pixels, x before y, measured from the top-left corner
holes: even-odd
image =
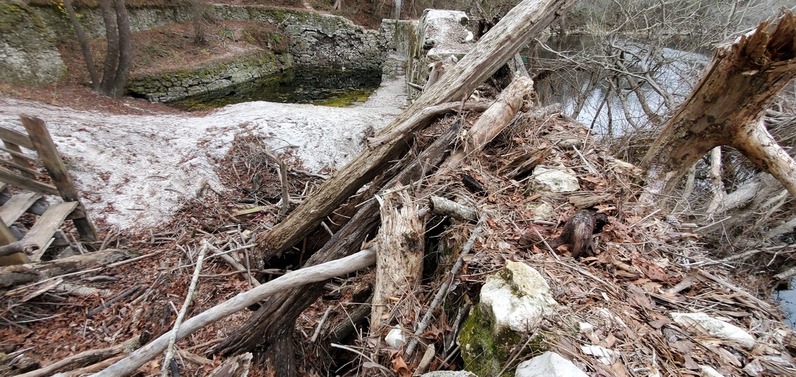
[[[376,282],[370,332],[380,335],[390,313],[391,297],[412,294],[423,278],[423,234],[426,221],[418,215],[417,204],[402,190],[380,200],[381,227],[377,235]],[[400,305],[400,301],[398,302]],[[400,321],[399,321],[400,324]]]

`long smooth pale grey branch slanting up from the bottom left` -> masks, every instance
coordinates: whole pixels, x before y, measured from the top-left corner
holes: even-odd
[[[375,248],[369,248],[349,257],[326,262],[318,266],[302,268],[290,274],[285,274],[279,278],[275,278],[271,282],[267,282],[262,286],[249,290],[248,292],[239,293],[235,297],[197,315],[197,317],[185,321],[177,333],[176,339],[181,340],[185,336],[189,336],[193,332],[196,332],[198,329],[213,324],[221,318],[227,317],[240,310],[246,309],[248,306],[254,305],[256,302],[262,301],[264,298],[270,297],[275,293],[290,290],[311,282],[322,282],[326,279],[349,274],[353,271],[370,266],[374,262],[376,262]],[[100,371],[100,373],[96,373],[94,376],[122,377],[131,375],[136,369],[149,360],[152,360],[166,349],[172,332],[174,332],[174,330],[166,332],[162,336],[159,336],[158,339],[150,342],[150,344],[146,344],[146,346],[132,352],[130,356],[127,356],[123,360],[119,360],[117,363]]]

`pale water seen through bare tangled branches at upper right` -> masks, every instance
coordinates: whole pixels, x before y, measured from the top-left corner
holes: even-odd
[[[527,53],[542,103],[563,103],[595,134],[615,137],[660,122],[689,94],[709,58],[686,42],[553,36]]]

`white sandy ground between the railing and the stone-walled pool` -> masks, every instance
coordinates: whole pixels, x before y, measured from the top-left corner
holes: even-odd
[[[21,129],[21,113],[44,119],[84,204],[119,230],[156,227],[207,182],[224,188],[214,167],[238,134],[267,136],[313,172],[337,169],[405,106],[404,77],[385,82],[360,107],[239,103],[207,115],[111,115],[0,97],[0,126]]]

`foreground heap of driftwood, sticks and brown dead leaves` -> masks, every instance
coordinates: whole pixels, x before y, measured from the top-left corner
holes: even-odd
[[[540,271],[560,309],[510,350],[505,371],[551,350],[590,374],[700,375],[704,366],[723,375],[749,368],[793,374],[788,350],[796,341],[778,309],[739,286],[734,267],[712,261],[691,227],[636,212],[638,170],[611,157],[556,107],[534,106],[529,81],[516,79],[491,104],[447,107],[392,173],[376,178],[380,184],[352,196],[311,237],[264,264],[258,235],[324,177],[280,164],[290,156],[265,153],[254,136],[236,140],[222,165],[239,192],[204,192],[170,224],[174,231],[103,240],[139,258],[56,274],[61,286],[97,291],[78,295],[45,280],[6,287],[3,318],[14,324],[2,330],[6,374],[466,369],[458,331],[486,277],[506,261]],[[539,166],[575,177],[579,190],[539,191],[532,183]],[[586,220],[565,225],[578,218]],[[595,227],[601,220],[607,223]],[[349,237],[365,243],[356,241],[351,257],[313,266],[324,243],[345,234],[346,221],[360,231]],[[585,239],[572,238],[584,233]],[[581,252],[576,244],[586,247]],[[93,254],[101,253],[119,255]],[[259,314],[275,309],[278,316]],[[671,313],[680,312],[722,317],[754,336],[755,346],[693,332],[673,320]],[[257,328],[263,321],[282,327]],[[585,331],[584,323],[594,328]],[[394,328],[406,334],[397,343],[394,336],[385,340]],[[175,331],[180,335],[172,340]],[[31,353],[33,346],[47,351]],[[608,351],[595,355],[595,349]]]

